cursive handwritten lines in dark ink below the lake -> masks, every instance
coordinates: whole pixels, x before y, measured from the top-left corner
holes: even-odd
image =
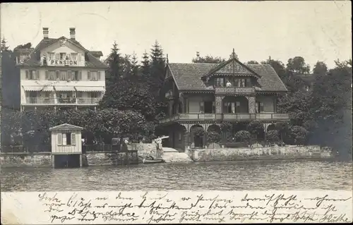
[[[315,195],[314,195],[315,194]],[[306,195],[307,196],[307,195]],[[113,223],[278,223],[352,221],[352,197],[298,193],[40,193],[37,200],[49,222]],[[348,207],[349,208],[349,207]]]

